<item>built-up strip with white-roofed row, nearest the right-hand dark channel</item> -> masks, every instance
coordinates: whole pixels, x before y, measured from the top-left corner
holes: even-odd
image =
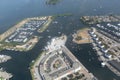
[[[111,46],[115,44],[119,45],[119,43],[108,38],[106,35],[99,33],[98,30],[96,30],[95,28],[92,28],[92,32],[90,32],[90,35],[91,39],[93,40],[92,45],[97,51],[99,60],[102,62],[101,65],[103,67],[107,66],[117,76],[120,76],[118,68],[120,64],[120,56],[119,53],[117,53],[119,52],[119,50],[117,50],[117,52],[113,52],[116,48],[114,48],[115,46],[111,48]]]

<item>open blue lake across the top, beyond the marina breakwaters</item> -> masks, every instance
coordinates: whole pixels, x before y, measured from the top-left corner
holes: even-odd
[[[20,20],[41,15],[73,13],[75,15],[120,14],[119,0],[63,0],[46,5],[46,0],[0,0],[0,33]]]

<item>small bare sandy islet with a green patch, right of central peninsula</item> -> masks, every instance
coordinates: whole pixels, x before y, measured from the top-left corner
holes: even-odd
[[[88,33],[89,30],[89,28],[83,28],[74,33],[73,42],[77,44],[91,43],[90,36]]]

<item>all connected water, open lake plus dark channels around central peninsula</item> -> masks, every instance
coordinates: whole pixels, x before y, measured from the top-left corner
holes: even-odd
[[[120,14],[120,1],[107,0],[63,0],[57,5],[46,5],[46,0],[0,0],[0,33],[27,17],[55,15],[62,13],[73,13],[74,16],[58,18],[58,24],[51,24],[45,31],[40,34],[43,38],[38,44],[28,52],[2,51],[0,54],[12,56],[12,60],[7,63],[0,64],[8,72],[13,74],[11,80],[31,80],[29,72],[29,64],[34,60],[39,52],[42,51],[46,42],[52,37],[60,36],[64,33],[68,36],[67,47],[74,55],[93,72],[100,80],[120,80],[109,69],[101,68],[100,62],[90,45],[76,45],[71,42],[71,34],[81,27],[79,22],[82,15],[103,15],[109,13]],[[114,6],[115,4],[115,6]],[[101,7],[102,6],[102,7]],[[61,32],[60,34],[58,32]],[[51,36],[50,38],[48,36]],[[75,48],[75,49],[74,49]],[[92,60],[94,59],[94,60]]]

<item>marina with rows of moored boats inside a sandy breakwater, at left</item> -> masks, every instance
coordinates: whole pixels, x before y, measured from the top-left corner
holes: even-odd
[[[47,29],[52,16],[27,18],[0,35],[0,49],[28,51],[41,38],[37,36]]]

